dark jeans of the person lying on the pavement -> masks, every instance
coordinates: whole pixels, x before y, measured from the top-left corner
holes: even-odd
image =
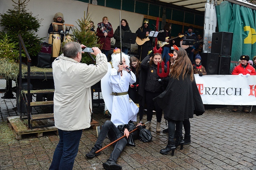
[[[113,142],[116,139],[122,137],[124,133],[122,133],[118,128],[116,128],[114,123],[112,123],[110,120],[105,121],[105,123],[103,124],[100,130],[99,137],[94,145],[94,147],[97,148],[97,150],[102,148],[102,142],[106,138],[106,135],[108,135],[111,142]],[[125,137],[115,142],[113,144],[114,149],[109,159],[114,160],[116,162],[117,158],[125,148],[126,144],[127,144],[127,140],[125,139]]]

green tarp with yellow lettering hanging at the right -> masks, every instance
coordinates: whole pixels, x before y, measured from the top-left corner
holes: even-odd
[[[256,55],[256,11],[223,1],[216,6],[216,15],[219,32],[233,33],[231,61],[238,62],[241,55],[249,55],[252,60]]]

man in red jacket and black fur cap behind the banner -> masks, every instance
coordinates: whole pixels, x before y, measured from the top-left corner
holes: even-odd
[[[240,57],[241,64],[234,68],[232,75],[240,75],[243,77],[248,77],[250,75],[256,75],[255,69],[251,66],[248,61],[250,57],[248,55],[241,55]],[[237,112],[238,106],[234,106],[233,112]],[[243,106],[243,111],[249,113],[248,106]]]

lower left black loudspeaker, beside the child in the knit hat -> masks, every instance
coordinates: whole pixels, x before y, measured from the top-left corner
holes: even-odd
[[[218,62],[219,54],[218,53],[201,53],[201,63],[204,66],[207,75],[213,75],[218,73]]]

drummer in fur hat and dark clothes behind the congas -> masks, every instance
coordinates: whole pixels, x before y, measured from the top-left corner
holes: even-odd
[[[63,14],[60,12],[57,12],[54,15],[53,21],[56,23],[64,23],[65,21],[63,20]],[[66,32],[68,31],[68,29],[66,28]],[[59,25],[55,25],[55,27],[53,28],[53,23],[50,24],[50,27],[48,29],[48,33],[50,34],[51,32],[58,32],[58,33],[62,33],[63,32],[63,28],[62,26]],[[61,42],[63,41],[63,34],[61,34]]]

